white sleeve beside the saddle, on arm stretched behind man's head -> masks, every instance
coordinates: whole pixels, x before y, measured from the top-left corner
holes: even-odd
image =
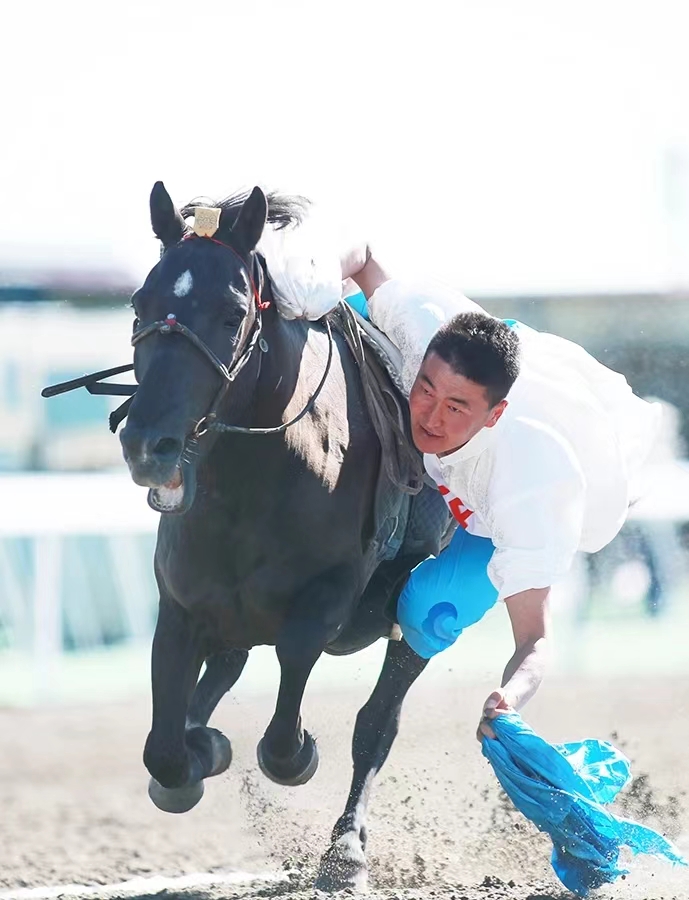
[[[402,354],[402,382],[407,393],[433,335],[441,325],[462,312],[485,313],[485,310],[461,291],[432,280],[391,278],[373,292],[368,300],[371,322]]]

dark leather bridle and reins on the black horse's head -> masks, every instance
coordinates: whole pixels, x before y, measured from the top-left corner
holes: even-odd
[[[234,249],[234,247],[230,246],[230,244],[225,244],[224,242],[218,241],[215,238],[198,237],[195,234],[189,234],[186,235],[182,240],[212,241],[214,244],[218,244],[221,247],[225,247],[227,250],[230,250],[240,260],[242,266],[246,271],[247,277],[249,279],[249,284],[251,285],[255,307],[253,322],[251,323],[249,328],[245,330],[245,323],[249,319],[249,316],[247,314],[247,316],[245,316],[244,318],[244,322],[242,323],[242,328],[240,330],[240,335],[237,339],[237,347],[235,353],[233,354],[233,357],[228,364],[225,364],[211,350],[208,344],[206,344],[206,342],[203,341],[194,331],[179,322],[175,313],[168,313],[168,315],[164,319],[159,319],[156,322],[151,322],[150,325],[145,325],[143,328],[137,329],[132,335],[132,346],[136,347],[137,344],[139,344],[145,338],[150,337],[152,334],[160,334],[164,336],[170,334],[181,334],[188,341],[191,341],[194,347],[196,347],[196,349],[204,356],[207,362],[210,363],[210,365],[220,375],[222,379],[220,388],[216,392],[208,412],[204,416],[202,416],[196,423],[193,431],[188,436],[187,441],[197,441],[208,431],[218,431],[221,433],[234,434],[281,434],[292,425],[295,425],[300,419],[303,419],[304,416],[311,411],[314,403],[323,390],[325,382],[330,373],[333,358],[333,336],[330,322],[327,318],[323,319],[323,324],[325,325],[325,330],[328,334],[328,359],[325,364],[325,370],[320,382],[318,383],[318,386],[316,387],[316,390],[313,392],[301,412],[294,416],[294,418],[290,419],[289,422],[283,422],[281,425],[276,425],[272,428],[250,428],[243,425],[230,425],[226,422],[218,421],[218,410],[223,400],[225,399],[225,396],[227,395],[232,382],[237,378],[239,373],[249,362],[254,353],[254,350],[256,349],[256,346],[258,345],[259,350],[262,354],[267,353],[269,349],[266,340],[261,336],[261,333],[263,331],[262,313],[270,306],[270,301],[263,300],[263,291],[265,289],[265,273],[258,254],[253,251],[249,255],[249,261],[247,261]],[[261,358],[259,357],[258,373],[256,376],[257,380],[260,375],[260,360]],[[115,369],[106,369],[102,372],[94,372],[92,375],[84,375],[82,378],[75,378],[72,381],[66,381],[61,384],[51,385],[50,387],[44,388],[43,391],[41,391],[41,394],[44,397],[52,397],[56,394],[62,394],[66,391],[71,391],[78,387],[85,387],[89,391],[89,393],[92,394],[114,394],[120,396],[123,394],[133,395],[136,392],[136,385],[99,383],[103,378],[108,378],[111,375],[119,375],[120,373],[130,371],[133,368],[133,365],[126,365],[117,366]],[[133,396],[129,396],[129,399],[126,400],[125,403],[123,403],[122,406],[115,410],[115,412],[111,415],[110,427],[112,431],[115,431],[117,425],[119,425],[119,423],[127,416],[129,407],[131,406],[133,399]]]

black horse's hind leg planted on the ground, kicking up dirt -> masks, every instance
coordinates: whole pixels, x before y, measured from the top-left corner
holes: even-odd
[[[352,786],[344,812],[333,829],[330,847],[321,859],[316,880],[319,890],[366,886],[366,811],[372,782],[397,736],[402,701],[427,663],[406,641],[388,644],[378,683],[356,719]]]

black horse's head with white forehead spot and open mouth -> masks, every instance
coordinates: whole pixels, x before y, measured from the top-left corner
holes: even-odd
[[[233,386],[260,334],[255,248],[268,203],[258,187],[223,202],[217,229],[202,237],[185,221],[193,207],[178,211],[162,182],[150,206],[163,253],[132,298],[139,387],[120,439],[133,480],[151,489],[149,503],[179,513],[194,500],[199,453],[210,443],[201,435],[220,410],[236,414],[250,402],[250,391]]]

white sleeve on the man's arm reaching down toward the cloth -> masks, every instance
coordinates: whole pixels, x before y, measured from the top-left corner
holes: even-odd
[[[501,477],[491,486],[498,496],[488,523],[495,545],[488,576],[500,600],[561,580],[581,542],[586,499],[581,468],[564,442],[548,436],[539,443],[540,451],[538,444],[532,447],[530,459],[518,460],[521,466],[507,473],[510,487]]]

